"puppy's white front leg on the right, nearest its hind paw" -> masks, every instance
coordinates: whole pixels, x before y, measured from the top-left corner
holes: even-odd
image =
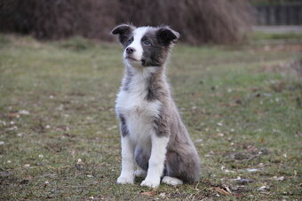
[[[147,169],[147,177],[140,185],[156,188],[161,182],[169,137],[152,135],[151,140],[152,149]]]

